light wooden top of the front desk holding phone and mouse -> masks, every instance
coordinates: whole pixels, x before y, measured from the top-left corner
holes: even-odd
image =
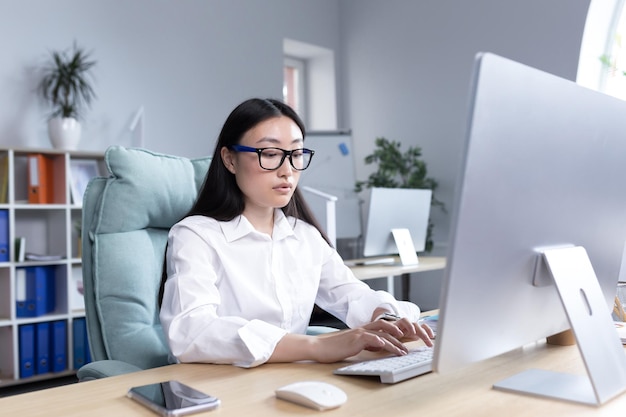
[[[371,354],[370,354],[371,355]],[[222,400],[206,416],[320,415],[277,400],[274,389],[302,380],[321,380],[348,394],[342,407],[324,416],[586,416],[622,415],[626,394],[600,408],[510,394],[494,382],[531,367],[583,373],[576,346],[537,343],[449,374],[431,373],[395,385],[373,379],[336,376],[338,364],[266,364],[253,369],[230,365],[179,364],[97,381],[66,385],[0,399],[3,415],[155,416],[126,398],[135,385],[178,379]]]

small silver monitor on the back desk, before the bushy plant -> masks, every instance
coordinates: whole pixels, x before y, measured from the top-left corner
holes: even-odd
[[[414,258],[401,256],[402,263],[417,263],[416,252],[426,246],[431,199],[431,190],[371,188],[363,256],[404,255],[401,249],[408,248]],[[398,233],[401,229],[408,230],[410,240]]]

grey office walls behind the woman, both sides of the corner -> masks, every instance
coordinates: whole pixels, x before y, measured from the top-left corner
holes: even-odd
[[[420,146],[437,196],[452,207],[474,55],[494,52],[575,80],[590,0],[0,0],[0,146],[49,148],[34,90],[51,50],[92,51],[97,99],[81,150],[143,146],[212,152],[242,100],[282,97],[283,41],[329,50],[336,99],[314,129],[352,131],[356,177],[374,139]],[[516,80],[511,80],[516,82]],[[332,99],[331,99],[332,100]],[[520,173],[524,175],[524,173]],[[436,255],[449,214],[433,211]],[[411,300],[438,304],[441,271],[413,281]]]

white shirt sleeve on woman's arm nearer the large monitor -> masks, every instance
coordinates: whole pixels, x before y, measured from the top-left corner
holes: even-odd
[[[354,328],[372,321],[378,307],[386,307],[413,322],[419,320],[417,305],[397,301],[386,291],[375,291],[357,279],[336,251],[329,253],[322,267],[322,277],[316,302],[318,305]]]

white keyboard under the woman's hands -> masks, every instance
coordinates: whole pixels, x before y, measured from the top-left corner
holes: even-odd
[[[433,348],[420,347],[404,356],[390,356],[353,363],[333,372],[335,375],[378,376],[383,384],[395,384],[432,371]]]

